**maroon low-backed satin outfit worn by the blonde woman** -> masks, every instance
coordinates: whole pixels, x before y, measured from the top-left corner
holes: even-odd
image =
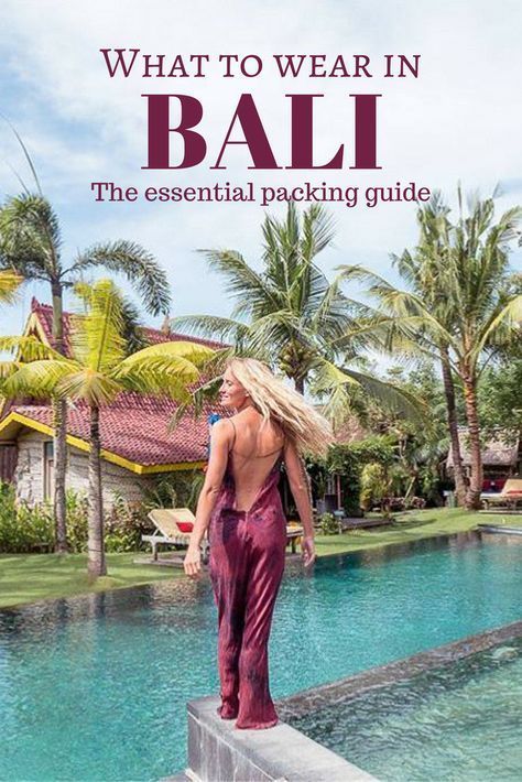
[[[286,519],[278,491],[282,450],[275,453],[252,506],[236,510],[232,444],[209,525],[209,571],[218,609],[218,713],[222,719],[237,717],[237,728],[271,728],[278,723],[269,688],[268,642],[284,572]]]

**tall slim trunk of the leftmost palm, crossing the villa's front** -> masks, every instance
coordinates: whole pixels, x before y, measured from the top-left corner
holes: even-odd
[[[52,284],[54,348],[64,354],[63,290],[61,283]],[[54,525],[55,551],[65,554],[67,549],[67,521],[65,506],[65,475],[67,469],[67,405],[65,400],[53,399],[54,419]]]

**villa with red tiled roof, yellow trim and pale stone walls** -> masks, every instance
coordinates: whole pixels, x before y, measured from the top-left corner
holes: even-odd
[[[209,347],[219,343],[145,328],[150,344],[188,340]],[[53,344],[52,307],[35,298],[24,330],[46,345]],[[64,314],[64,341],[69,351],[70,318]],[[176,402],[123,392],[101,409],[100,434],[104,500],[117,496],[138,500],[155,476],[203,467],[208,447],[207,416],[184,416],[172,432],[168,424]],[[67,413],[66,487],[87,490],[89,411],[84,403],[69,404]],[[53,411],[48,402],[24,399],[4,401],[0,417],[0,479],[13,481],[17,497],[30,503],[53,498]]]

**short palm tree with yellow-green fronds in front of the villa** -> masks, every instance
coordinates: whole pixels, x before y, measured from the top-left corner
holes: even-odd
[[[72,357],[34,337],[0,337],[0,349],[18,350],[19,360],[0,365],[3,391],[9,397],[69,399],[87,405],[89,434],[88,573],[107,574],[104,549],[104,508],[100,461],[100,408],[123,390],[168,394],[186,401],[198,367],[211,356],[208,347],[173,341],[153,345],[126,356],[123,300],[110,280],[78,293],[86,313],[73,321]]]

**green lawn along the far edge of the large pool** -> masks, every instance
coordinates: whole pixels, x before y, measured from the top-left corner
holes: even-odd
[[[341,554],[390,543],[464,532],[472,530],[481,522],[521,526],[522,517],[468,513],[460,509],[413,511],[396,515],[389,526],[373,526],[368,530],[345,532],[341,535],[316,535],[316,550],[318,556]],[[134,565],[135,556],[134,553],[108,554],[110,575],[98,578],[94,585],[89,585],[85,554],[70,554],[65,557],[57,554],[2,554],[0,555],[0,607],[185,577],[181,568]]]

